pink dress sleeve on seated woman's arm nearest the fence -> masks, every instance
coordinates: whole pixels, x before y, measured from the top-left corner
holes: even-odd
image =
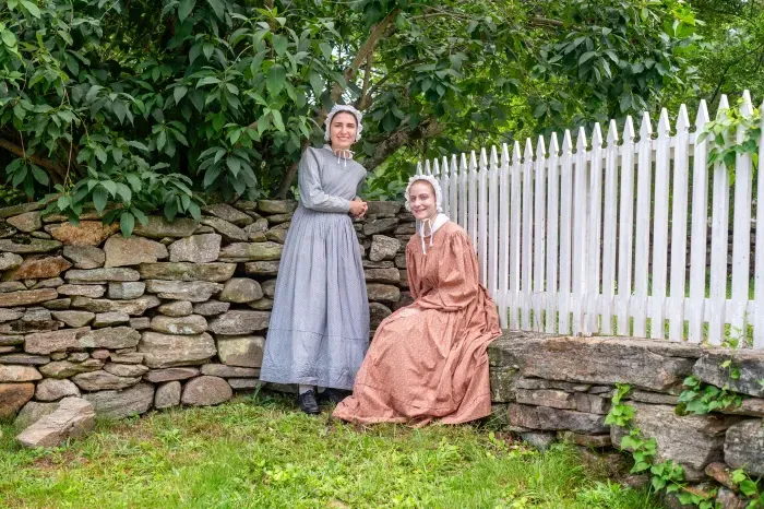
[[[469,238],[454,233],[447,239],[438,265],[438,291],[417,300],[422,309],[458,311],[473,303],[480,289],[477,257]]]

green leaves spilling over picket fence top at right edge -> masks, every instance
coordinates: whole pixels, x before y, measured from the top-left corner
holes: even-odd
[[[743,99],[737,108],[720,108],[716,119],[701,131],[697,142],[712,142],[708,152],[708,166],[721,163],[729,174],[729,185],[735,184],[736,161],[740,155],[751,157],[755,175],[759,167],[759,141],[762,137],[762,114],[759,108],[743,114]]]

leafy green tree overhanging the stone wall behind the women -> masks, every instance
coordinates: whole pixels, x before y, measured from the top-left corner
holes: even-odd
[[[0,152],[72,217],[198,215],[286,196],[336,102],[365,110],[368,169],[650,107],[692,79],[694,25],[680,0],[9,0]]]

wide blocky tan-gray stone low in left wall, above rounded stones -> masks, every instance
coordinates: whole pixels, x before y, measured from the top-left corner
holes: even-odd
[[[142,333],[139,352],[145,354],[150,368],[193,366],[204,364],[217,351],[210,334],[174,335],[146,331]]]

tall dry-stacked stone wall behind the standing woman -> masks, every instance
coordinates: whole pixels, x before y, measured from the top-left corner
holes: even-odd
[[[0,418],[29,423],[69,396],[118,418],[258,387],[295,206],[216,204],[130,238],[94,212],[73,225],[36,203],[0,209]],[[371,202],[355,223],[372,327],[410,299],[401,209]]]

